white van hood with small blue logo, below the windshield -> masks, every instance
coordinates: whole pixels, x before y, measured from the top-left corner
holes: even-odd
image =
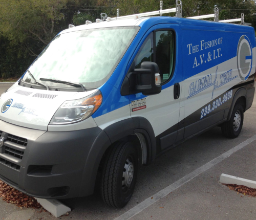
[[[87,97],[96,91],[46,91],[15,83],[0,98],[0,120],[32,129],[47,130],[53,115],[63,102]]]

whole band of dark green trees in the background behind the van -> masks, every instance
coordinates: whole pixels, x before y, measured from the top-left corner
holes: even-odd
[[[175,0],[164,0],[163,9],[175,8]],[[245,14],[245,22],[256,26],[253,0],[183,0],[183,17],[214,13],[219,19]],[[69,24],[95,21],[104,12],[110,17],[159,10],[158,0],[0,0],[0,78],[20,76],[48,45],[53,37]],[[164,14],[175,16],[175,13]],[[211,19],[211,18],[209,18]]]

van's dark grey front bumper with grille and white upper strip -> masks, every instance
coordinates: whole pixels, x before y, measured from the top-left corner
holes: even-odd
[[[0,179],[28,195],[45,199],[91,194],[93,187],[84,194],[81,188],[86,187],[82,186],[86,174],[92,173],[86,162],[101,133],[99,127],[51,132],[0,120],[0,137],[5,138],[0,149]]]

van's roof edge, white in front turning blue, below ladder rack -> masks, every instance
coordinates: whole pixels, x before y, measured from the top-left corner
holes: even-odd
[[[198,19],[189,19],[189,18],[179,18],[179,17],[167,17],[167,16],[155,16],[155,17],[141,17],[138,19],[127,18],[127,19],[113,19],[111,21],[102,21],[99,23],[92,23],[89,25],[80,25],[74,28],[69,28],[61,31],[59,34],[80,31],[80,30],[89,30],[89,29],[98,29],[98,28],[108,28],[108,27],[125,27],[125,26],[142,26],[143,24],[147,25],[157,25],[157,24],[183,24],[183,25],[194,25],[194,26],[205,26],[205,27],[219,27],[219,28],[238,28],[240,30],[253,29],[252,27],[243,26],[239,24],[230,24],[222,22],[214,22],[209,20],[198,20]],[[145,25],[146,25],[145,24]]]

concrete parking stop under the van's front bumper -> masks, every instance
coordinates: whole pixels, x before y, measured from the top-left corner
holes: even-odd
[[[47,211],[51,212],[55,217],[59,217],[71,211],[71,209],[68,206],[65,206],[58,200],[45,200],[39,198],[35,199],[38,203],[41,204],[42,207],[44,207]]]

